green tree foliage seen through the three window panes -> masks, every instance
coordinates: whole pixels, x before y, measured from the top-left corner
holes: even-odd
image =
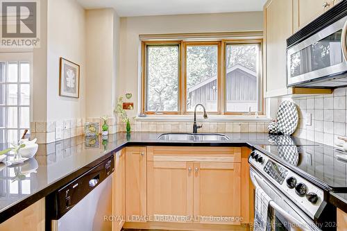
[[[255,44],[228,44],[226,68],[242,65],[256,71],[259,47]],[[217,76],[218,46],[187,46],[187,88]],[[176,45],[147,46],[146,110],[178,110],[179,49]],[[188,96],[189,97],[189,96]],[[189,99],[187,99],[189,103]],[[202,102],[204,103],[204,102]]]

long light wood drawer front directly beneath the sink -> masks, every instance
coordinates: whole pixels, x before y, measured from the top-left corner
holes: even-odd
[[[148,161],[241,162],[241,147],[148,146]]]

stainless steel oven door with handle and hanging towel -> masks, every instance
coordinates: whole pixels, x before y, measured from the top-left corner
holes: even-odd
[[[260,176],[257,171],[251,168],[250,173],[253,185],[260,187],[271,198],[268,215],[271,231],[321,231],[301,209],[291,203],[284,194]]]

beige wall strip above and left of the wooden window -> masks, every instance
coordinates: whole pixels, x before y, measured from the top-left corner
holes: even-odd
[[[261,31],[262,20],[262,12],[122,17],[118,93],[133,93],[134,108],[138,108],[139,35]],[[137,110],[129,115],[136,116]]]

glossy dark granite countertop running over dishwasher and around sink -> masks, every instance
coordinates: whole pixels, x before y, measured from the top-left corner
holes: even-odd
[[[125,146],[248,146],[251,148],[262,144],[285,144],[281,143],[277,136],[259,132],[225,133],[230,140],[223,142],[164,142],[158,140],[161,134],[132,132],[127,135],[125,132],[118,132],[109,135],[107,142],[101,137],[96,140],[83,136],[74,137],[51,144],[40,144],[37,155],[23,164],[15,166],[0,164],[0,223],[74,180]],[[292,138],[297,145],[315,144],[305,139]],[[2,144],[0,147],[6,148],[6,145]]]

